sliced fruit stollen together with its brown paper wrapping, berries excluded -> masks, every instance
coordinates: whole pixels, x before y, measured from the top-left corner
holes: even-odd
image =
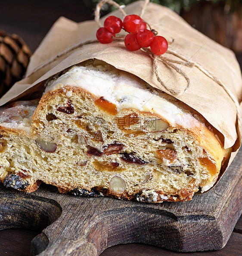
[[[95,21],[56,21],[0,99],[0,182],[139,202],[217,183],[241,145],[239,64],[168,8],[147,3],[142,18],[170,42],[161,57],[100,44]]]

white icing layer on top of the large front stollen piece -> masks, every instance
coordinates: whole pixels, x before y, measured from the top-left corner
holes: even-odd
[[[175,104],[153,94],[134,76],[123,71],[112,72],[103,66],[73,66],[59,78],[51,80],[45,92],[58,88],[65,90],[66,85],[83,88],[97,97],[104,97],[115,104],[118,111],[133,108],[151,112],[160,115],[172,126],[180,125],[184,128],[198,124],[191,114],[183,113]]]

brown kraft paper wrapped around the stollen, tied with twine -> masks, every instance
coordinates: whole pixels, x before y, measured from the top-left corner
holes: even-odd
[[[142,6],[143,1],[137,1],[126,6],[124,11],[127,14],[139,14]],[[109,15],[123,19],[118,10]],[[104,19],[105,17],[101,19],[102,24]],[[168,41],[174,40],[168,49],[182,55],[185,60],[195,62],[203,69],[209,70],[226,85],[242,107],[241,71],[232,51],[202,35],[166,7],[149,3],[143,19],[151,28],[158,31],[158,35],[164,36]],[[46,79],[89,59],[105,61],[171,94],[158,82],[152,70],[152,58],[147,53],[141,50],[128,51],[123,41],[111,44],[88,43],[96,40],[98,28],[95,21],[76,23],[64,17],[59,18],[31,57],[26,78],[17,82],[3,95],[0,105],[36,92]],[[173,54],[166,53],[164,56],[184,61]],[[184,94],[175,98],[202,114],[211,126],[223,134],[224,147],[233,149],[228,164],[221,170],[221,177],[241,144],[236,106],[224,88],[199,68],[176,65],[187,74],[191,84]],[[186,87],[184,77],[161,61],[158,62],[158,73],[168,88],[179,91]]]

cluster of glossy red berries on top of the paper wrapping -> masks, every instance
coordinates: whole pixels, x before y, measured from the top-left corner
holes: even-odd
[[[137,51],[141,47],[149,47],[155,55],[164,54],[168,49],[168,42],[163,36],[156,36],[147,29],[146,22],[140,16],[132,14],[124,17],[124,21],[115,16],[109,16],[104,21],[104,27],[96,32],[97,40],[102,44],[109,44],[124,28],[130,34],[124,38],[124,44],[130,51]]]

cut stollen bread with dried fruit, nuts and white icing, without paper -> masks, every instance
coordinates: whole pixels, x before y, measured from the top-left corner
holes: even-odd
[[[0,154],[0,180],[19,190],[161,202],[211,188],[228,152],[185,104],[94,60],[2,109]]]

